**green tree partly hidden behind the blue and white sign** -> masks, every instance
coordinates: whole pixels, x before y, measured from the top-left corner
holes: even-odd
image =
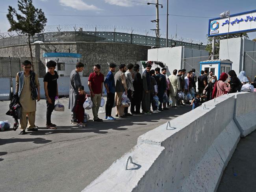
[[[238,33],[238,34],[228,35],[228,39],[236,38],[236,37],[245,37],[246,39],[249,39],[247,33]],[[222,39],[227,39],[227,35],[220,35],[220,36],[215,37],[214,55],[219,55],[219,42]],[[207,37],[207,40],[208,40],[208,44],[206,45],[205,50],[211,54],[211,52],[212,52],[212,37]]]

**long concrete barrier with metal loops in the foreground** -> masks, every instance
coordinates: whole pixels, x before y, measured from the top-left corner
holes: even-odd
[[[224,95],[204,104],[171,120],[170,125],[141,135],[134,150],[114,162],[83,192],[216,191],[240,132],[233,120],[234,96]],[[155,146],[158,152],[151,156],[137,150],[144,146]],[[140,162],[143,170],[125,170],[128,155],[134,155],[134,162]]]

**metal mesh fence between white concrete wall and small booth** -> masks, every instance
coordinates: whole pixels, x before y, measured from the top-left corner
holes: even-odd
[[[219,59],[219,55],[214,55],[214,59]],[[191,70],[194,68],[196,70],[195,74],[200,76],[200,61],[211,60],[211,56],[201,56],[201,57],[189,57],[181,59],[182,68],[186,70]]]

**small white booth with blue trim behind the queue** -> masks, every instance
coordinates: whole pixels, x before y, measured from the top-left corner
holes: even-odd
[[[215,60],[206,60],[200,62],[200,71],[208,70],[213,72],[213,75],[219,79],[221,73],[228,73],[232,69],[232,61],[228,59],[215,59]]]

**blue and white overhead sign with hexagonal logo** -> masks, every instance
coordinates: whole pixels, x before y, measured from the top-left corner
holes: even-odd
[[[256,31],[256,10],[209,19],[208,36]]]

